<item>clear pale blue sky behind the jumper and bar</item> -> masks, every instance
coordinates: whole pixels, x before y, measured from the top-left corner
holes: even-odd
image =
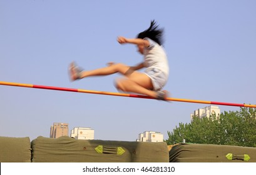
[[[256,1],[0,0],[0,81],[116,92],[120,75],[71,83],[68,65],[142,61],[133,45],[151,19],[165,28],[173,98],[256,104]],[[167,139],[207,104],[0,86],[0,136],[49,137],[53,123],[95,129],[95,139],[135,141],[159,131]],[[220,106],[221,111],[239,108]]]

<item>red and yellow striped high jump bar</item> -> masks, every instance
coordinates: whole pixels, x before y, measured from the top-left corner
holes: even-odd
[[[73,88],[61,88],[55,86],[43,86],[36,84],[24,84],[24,83],[11,83],[6,81],[0,81],[0,85],[4,86],[18,86],[23,88],[36,88],[36,89],[48,89],[54,91],[69,91],[74,93],[88,93],[88,94],[100,94],[100,95],[108,95],[108,96],[122,96],[126,98],[143,98],[143,99],[154,99],[150,96],[138,95],[138,94],[125,94],[125,93],[111,93],[105,91],[92,91],[86,89],[73,89]],[[202,100],[194,100],[194,99],[178,99],[178,98],[167,98],[167,101],[178,101],[185,103],[202,103],[202,104],[215,104],[215,105],[223,105],[223,106],[238,106],[238,107],[246,107],[246,108],[256,108],[256,105],[252,104],[238,104],[238,103],[224,103],[217,101],[202,101]]]

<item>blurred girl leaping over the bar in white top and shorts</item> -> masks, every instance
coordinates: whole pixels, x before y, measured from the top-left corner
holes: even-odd
[[[151,98],[166,100],[167,91],[161,91],[165,86],[169,66],[165,50],[161,46],[163,29],[159,29],[155,21],[151,21],[148,29],[140,32],[134,39],[120,36],[120,44],[136,44],[138,51],[143,54],[144,61],[137,66],[126,66],[121,63],[108,63],[105,68],[82,71],[74,63],[69,66],[71,80],[83,79],[89,76],[106,76],[121,73],[125,78],[116,80],[116,88],[130,93],[144,94]],[[139,69],[146,68],[145,73]]]

